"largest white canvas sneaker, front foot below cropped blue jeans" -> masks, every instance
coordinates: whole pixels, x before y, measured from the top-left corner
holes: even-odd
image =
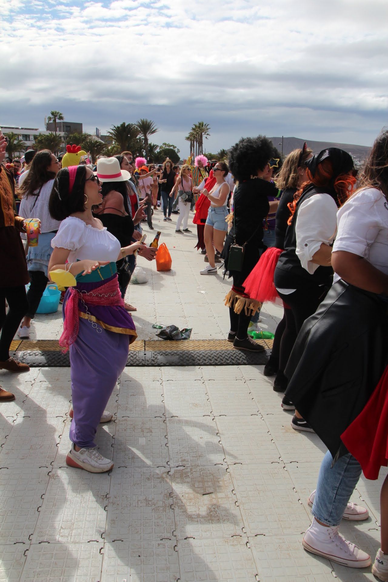
[[[350,568],[366,568],[371,565],[371,556],[345,540],[338,533],[338,526],[321,526],[316,519],[304,534],[302,545],[308,552]]]

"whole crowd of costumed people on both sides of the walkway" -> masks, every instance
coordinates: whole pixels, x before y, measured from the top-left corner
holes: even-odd
[[[0,162],[6,143],[0,134]],[[232,279],[225,297],[234,349],[262,352],[250,333],[262,304],[283,316],[264,374],[294,411],[291,426],[316,432],[328,448],[304,548],[349,567],[368,553],[339,533],[341,519],[364,520],[350,501],[361,472],[376,479],[388,464],[387,297],[388,132],[378,136],[363,171],[339,148],[314,154],[305,143],[283,160],[265,136],[241,138],[227,160],[190,156],[162,166],[129,151],[60,167],[48,150],[27,151],[23,164],[0,163],[0,368],[29,368],[9,355],[17,332],[29,338],[42,293],[55,273],[65,277],[60,346],[70,352],[72,423],[66,463],[102,473],[113,463],[95,446],[100,422],[136,339],[124,301],[136,255],[154,212],[190,233],[208,264],[201,275]],[[20,207],[17,211],[16,203]],[[160,208],[160,210],[159,210]],[[40,219],[37,247],[26,249],[24,219]],[[30,283],[26,293],[26,284]],[[8,311],[6,311],[8,303]],[[112,359],[111,354],[115,357]],[[12,400],[0,389],[0,401]],[[259,445],[259,443],[258,443]],[[372,572],[388,581],[388,479],[381,494],[381,548]]]

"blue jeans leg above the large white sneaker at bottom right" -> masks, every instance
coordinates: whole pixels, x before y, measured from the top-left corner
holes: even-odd
[[[311,513],[326,526],[336,527],[357,485],[361,465],[350,453],[340,457],[333,467],[332,462],[333,457],[328,451],[319,469]]]

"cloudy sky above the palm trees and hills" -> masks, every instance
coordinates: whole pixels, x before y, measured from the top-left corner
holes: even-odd
[[[187,153],[264,133],[370,145],[388,125],[387,0],[0,0],[0,124],[154,120]]]

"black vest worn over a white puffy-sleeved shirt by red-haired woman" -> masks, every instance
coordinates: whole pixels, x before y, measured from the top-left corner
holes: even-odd
[[[284,251],[277,261],[275,269],[275,286],[283,289],[298,289],[301,286],[315,287],[317,285],[330,286],[333,282],[332,267],[322,267],[319,265],[311,275],[301,265],[301,262],[296,254],[297,239],[296,239],[296,223],[298,219],[298,210],[300,205],[308,198],[315,196],[315,194],[326,194],[337,201],[336,193],[328,186],[309,186],[297,202],[296,211],[294,212],[291,224],[287,228],[286,237],[284,238]]]

